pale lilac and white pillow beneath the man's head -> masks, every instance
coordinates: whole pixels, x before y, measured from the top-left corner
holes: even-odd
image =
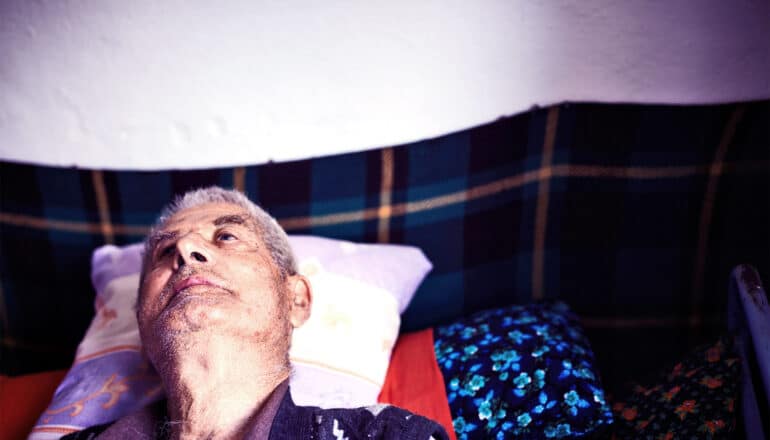
[[[292,397],[324,408],[373,405],[406,308],[431,264],[409,246],[290,236],[313,313],[292,337]],[[32,438],[109,422],[162,397],[141,354],[134,315],[142,245],[104,246],[93,255],[96,314],[75,362]]]

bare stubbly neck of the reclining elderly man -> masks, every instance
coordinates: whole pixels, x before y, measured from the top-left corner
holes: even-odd
[[[289,377],[285,359],[216,338],[188,342],[169,362],[159,373],[172,439],[242,438]]]

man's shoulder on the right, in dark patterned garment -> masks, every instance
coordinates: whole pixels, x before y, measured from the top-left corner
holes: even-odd
[[[448,439],[438,423],[405,409],[378,404],[360,408],[295,406],[289,393],[273,420],[272,439]]]

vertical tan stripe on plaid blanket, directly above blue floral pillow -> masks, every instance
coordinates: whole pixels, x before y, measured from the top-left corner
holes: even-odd
[[[556,143],[556,127],[559,123],[559,107],[548,111],[543,141],[543,158],[540,164],[540,180],[535,208],[535,237],[532,249],[532,300],[543,299],[543,271],[545,266],[545,232],[548,224],[548,199],[551,191],[550,178],[553,175],[553,147]]]

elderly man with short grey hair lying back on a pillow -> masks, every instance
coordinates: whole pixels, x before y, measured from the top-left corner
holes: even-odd
[[[68,438],[446,438],[395,407],[294,405],[289,344],[311,292],[286,233],[243,194],[177,198],[145,243],[136,310],[167,400]]]

